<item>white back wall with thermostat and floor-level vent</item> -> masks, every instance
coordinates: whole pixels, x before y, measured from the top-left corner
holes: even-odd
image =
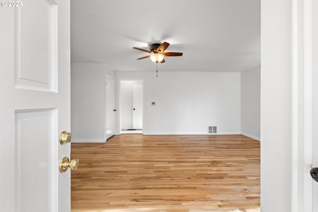
[[[115,71],[120,79],[144,79],[144,134],[240,134],[239,72]]]

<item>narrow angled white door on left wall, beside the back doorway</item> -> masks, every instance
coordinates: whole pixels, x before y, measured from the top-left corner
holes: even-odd
[[[105,78],[105,105],[106,105],[106,140],[114,135],[115,132],[115,81],[111,76]]]

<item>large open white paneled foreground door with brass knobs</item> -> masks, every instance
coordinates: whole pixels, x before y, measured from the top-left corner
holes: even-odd
[[[0,8],[0,211],[70,212],[70,1],[22,3]]]

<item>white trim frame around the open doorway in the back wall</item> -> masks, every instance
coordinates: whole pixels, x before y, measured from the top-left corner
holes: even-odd
[[[118,109],[119,113],[117,116],[117,123],[118,123],[118,134],[121,134],[121,82],[122,81],[142,81],[143,82],[143,129],[142,129],[142,134],[145,134],[145,79],[143,78],[119,78],[118,79]]]

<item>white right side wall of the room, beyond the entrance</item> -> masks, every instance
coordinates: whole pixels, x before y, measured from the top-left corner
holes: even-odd
[[[240,75],[241,134],[260,141],[260,66]]]

